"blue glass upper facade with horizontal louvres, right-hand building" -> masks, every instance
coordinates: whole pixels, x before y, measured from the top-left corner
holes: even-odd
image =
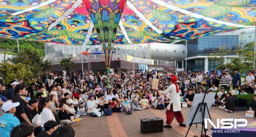
[[[187,57],[197,55],[210,55],[219,47],[226,47],[227,50],[235,49],[239,44],[239,35],[213,35],[199,37],[187,42]],[[236,54],[235,52],[231,54]]]

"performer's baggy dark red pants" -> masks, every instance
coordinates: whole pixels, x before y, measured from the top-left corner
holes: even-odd
[[[170,106],[170,110],[168,110],[168,109],[166,110],[166,124],[171,125],[174,117],[176,118],[178,123],[182,123],[184,121],[184,117],[183,117],[183,114],[181,113],[181,111],[172,111],[172,110],[173,110],[172,105]]]

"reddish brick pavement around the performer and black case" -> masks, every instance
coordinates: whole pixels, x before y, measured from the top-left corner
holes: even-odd
[[[111,116],[91,117],[82,116],[81,122],[73,123],[71,126],[76,131],[76,137],[184,137],[188,129],[178,126],[174,119],[172,128],[164,128],[163,133],[142,134],[140,132],[140,119],[145,117],[161,117],[166,124],[165,110],[143,109],[142,111],[132,111],[133,114],[113,113]],[[189,115],[190,108],[181,108],[185,122]],[[217,118],[230,118],[231,113],[217,109],[213,106],[210,109],[210,114],[213,122]],[[241,118],[242,112],[236,112],[236,118]],[[254,118],[244,117],[249,121],[256,120]],[[190,129],[188,137],[201,134],[201,124],[193,125]],[[208,127],[210,125],[208,124]],[[191,134],[192,133],[192,134]]]

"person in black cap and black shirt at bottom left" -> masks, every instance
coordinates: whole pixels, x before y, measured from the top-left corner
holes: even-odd
[[[50,137],[53,131],[58,128],[58,123],[55,121],[47,121],[44,123],[44,131],[38,134],[37,137]]]

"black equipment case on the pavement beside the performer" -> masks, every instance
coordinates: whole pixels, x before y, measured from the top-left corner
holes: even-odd
[[[140,119],[140,131],[143,134],[163,132],[163,119],[160,117]]]

